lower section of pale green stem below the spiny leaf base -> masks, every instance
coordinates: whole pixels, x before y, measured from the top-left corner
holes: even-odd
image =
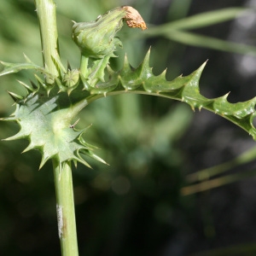
[[[73,181],[71,164],[63,168],[53,161],[55,174],[56,208],[62,256],[78,256],[79,248],[75,210],[73,202]]]

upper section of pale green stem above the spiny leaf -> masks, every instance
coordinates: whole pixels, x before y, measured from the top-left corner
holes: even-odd
[[[52,84],[54,83],[55,76],[59,75],[55,62],[61,62],[58,47],[55,3],[52,0],[35,0],[35,4],[41,32],[44,67],[46,71],[53,75],[52,77],[46,76],[46,82]]]

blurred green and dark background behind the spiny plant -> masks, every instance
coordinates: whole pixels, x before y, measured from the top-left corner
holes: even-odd
[[[79,67],[71,20],[95,20],[108,9],[131,5],[147,22],[148,31],[124,26],[119,33],[124,49],[118,51],[120,60],[112,60],[113,68],[120,67],[125,52],[131,66],[137,67],[151,46],[150,62],[155,74],[167,67],[167,78],[174,79],[181,73],[192,73],[209,60],[201,78],[204,96],[217,97],[231,91],[230,102],[240,102],[256,95],[252,48],[227,43],[228,47],[221,44],[217,50],[201,48],[207,41],[200,37],[193,43],[197,46],[192,46],[191,38],[186,36],[183,43],[173,41],[174,34],[150,36],[155,26],[212,10],[245,6],[253,9],[253,1],[56,3],[61,59],[63,63],[69,61],[71,67]],[[247,14],[191,32],[253,46],[255,17]],[[33,1],[1,1],[0,21],[0,59],[22,62],[25,53],[42,64]],[[248,54],[241,55],[241,51]],[[16,79],[26,82],[33,75],[20,72],[0,78],[1,117],[15,110],[6,90],[24,93]],[[104,166],[89,159],[92,170],[81,165],[73,169],[81,256],[255,255],[255,143],[247,133],[213,113],[194,113],[184,103],[154,96],[103,98],[90,104],[79,117],[80,128],[93,124],[84,138],[101,148],[96,154],[110,164]],[[18,130],[15,124],[1,122],[0,138]],[[27,144],[22,140],[0,143],[0,254],[61,255],[52,166],[49,162],[38,172],[40,154],[20,154]],[[253,156],[238,165],[237,157],[247,150]],[[237,161],[218,166],[232,159]],[[199,189],[189,189],[189,175],[204,170],[201,174],[210,176],[206,168],[211,166],[217,166],[219,172],[215,183],[199,181]],[[197,193],[200,190],[204,191]]]

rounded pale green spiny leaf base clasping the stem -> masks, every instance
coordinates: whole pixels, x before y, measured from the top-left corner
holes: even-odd
[[[23,85],[23,84],[22,84]],[[71,98],[67,92],[57,93],[58,86],[52,87],[49,92],[45,90],[43,83],[39,82],[37,93],[30,93],[26,96],[26,101],[20,99],[15,94],[16,109],[12,117],[3,119],[5,121],[15,121],[20,125],[20,131],[13,137],[6,140],[16,140],[26,138],[29,145],[23,152],[31,149],[38,149],[42,154],[39,169],[44,166],[49,159],[55,159],[60,166],[64,162],[80,162],[84,166],[90,165],[84,160],[81,154],[90,156],[102,161],[100,157],[92,153],[94,149],[84,142],[82,135],[90,127],[81,131],[71,125],[73,118],[82,107],[76,106],[76,97]],[[88,96],[88,92],[79,93]],[[81,103],[83,105],[84,102]]]

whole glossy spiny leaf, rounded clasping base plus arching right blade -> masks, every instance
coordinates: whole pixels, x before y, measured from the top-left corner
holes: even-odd
[[[256,129],[253,126],[256,97],[237,103],[228,102],[228,95],[208,99],[201,95],[199,89],[199,80],[206,63],[188,76],[179,76],[167,81],[166,71],[159,76],[154,75],[149,66],[149,56],[150,51],[136,69],[130,66],[125,57],[124,67],[119,72],[114,72],[108,67],[104,70],[108,72],[108,80],[97,82],[95,87],[91,87],[89,80],[80,75],[78,86],[68,91],[61,80],[55,79],[55,84],[49,86],[36,75],[38,85],[28,87],[33,90],[30,94],[26,97],[11,94],[16,102],[16,110],[9,118],[3,120],[17,122],[20,131],[7,140],[28,139],[30,143],[24,152],[38,149],[42,153],[40,167],[49,159],[57,160],[60,166],[73,160],[75,165],[80,162],[90,167],[81,154],[106,164],[92,152],[96,147],[86,143],[82,137],[88,127],[78,131],[74,127],[74,120],[77,119],[79,111],[90,102],[103,96],[128,92],[186,102],[193,110],[205,108],[239,125],[256,139]]]

